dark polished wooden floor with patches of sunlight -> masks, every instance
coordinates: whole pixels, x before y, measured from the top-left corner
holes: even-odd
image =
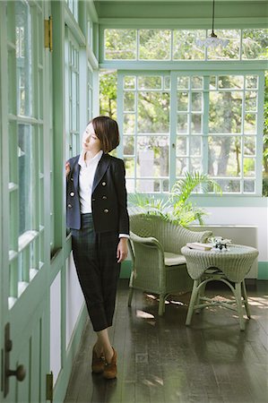
[[[95,339],[88,322],[65,403],[268,402],[268,281],[247,285],[252,318],[245,331],[236,313],[219,306],[194,314],[186,327],[189,294],[174,297],[163,317],[155,296],[139,291],[128,308],[127,287],[121,279],[110,332],[117,380],[91,373]],[[208,293],[229,296],[216,283]]]

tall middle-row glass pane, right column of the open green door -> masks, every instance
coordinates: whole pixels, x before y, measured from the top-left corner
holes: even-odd
[[[34,193],[33,136],[28,124],[18,125],[18,158],[19,158],[19,235],[32,229]]]

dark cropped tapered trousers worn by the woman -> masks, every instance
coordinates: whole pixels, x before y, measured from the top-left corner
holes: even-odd
[[[81,215],[81,229],[72,229],[73,260],[95,331],[113,322],[120,272],[117,244],[117,233],[95,233],[91,213]]]

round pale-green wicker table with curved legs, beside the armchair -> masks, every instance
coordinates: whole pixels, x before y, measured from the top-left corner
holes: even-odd
[[[250,311],[244,279],[258,255],[258,251],[250,246],[232,244],[228,251],[221,252],[218,250],[199,251],[184,246],[181,253],[186,257],[188,273],[194,279],[186,325],[191,324],[195,310],[221,304],[238,312],[240,330],[245,330],[243,305],[248,318],[250,318]],[[205,286],[212,280],[220,280],[227,284],[235,296],[235,301],[215,301],[204,296]]]

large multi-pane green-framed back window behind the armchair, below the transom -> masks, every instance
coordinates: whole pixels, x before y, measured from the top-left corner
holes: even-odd
[[[186,171],[199,171],[223,193],[257,193],[264,74],[118,75],[128,192],[169,192]]]

